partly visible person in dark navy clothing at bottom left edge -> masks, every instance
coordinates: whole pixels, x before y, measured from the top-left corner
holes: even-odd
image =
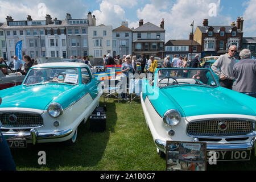
[[[0,101],[1,103],[1,101]],[[2,123],[0,121],[0,128]],[[16,171],[10,148],[0,130],[0,171]]]

